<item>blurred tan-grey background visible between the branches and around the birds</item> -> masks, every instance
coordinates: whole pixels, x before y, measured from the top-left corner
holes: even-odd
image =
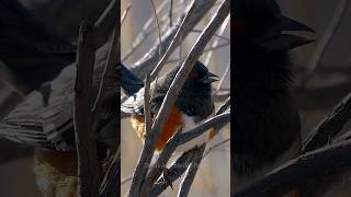
[[[49,31],[63,36],[67,40],[76,42],[78,27],[81,20],[95,21],[99,14],[106,7],[109,0],[21,0],[21,2],[31,10],[31,12],[42,21]],[[165,11],[158,14],[159,20],[168,10],[169,1],[155,0],[155,4],[159,8],[166,2]],[[184,0],[183,5],[179,5],[174,10],[173,19],[180,12],[183,12],[190,0]],[[295,95],[299,105],[303,137],[318,124],[325,115],[331,111],[348,92],[351,90],[351,28],[349,21],[351,20],[351,5],[346,0],[278,0],[285,15],[295,19],[316,31],[316,43],[301,47],[292,51],[294,71],[296,72]],[[152,18],[150,1],[146,0],[122,0],[121,13],[132,3],[131,11],[123,23],[122,28],[122,58],[126,51],[131,49],[136,36],[141,32],[147,20]],[[342,5],[347,4],[343,10]],[[301,79],[312,65],[310,59],[316,53],[318,42],[326,37],[326,31],[330,31],[332,19],[338,16],[340,10],[343,10],[336,30],[330,39],[327,42],[326,50],[320,58],[318,67],[308,77],[308,81],[301,85]],[[210,12],[196,26],[196,30],[203,30],[207,24],[213,12]],[[155,22],[151,23],[155,26]],[[165,25],[163,25],[165,26]],[[162,32],[167,31],[167,25]],[[328,33],[328,32],[327,32]],[[189,51],[199,33],[192,33],[182,46],[183,54]],[[230,38],[228,30],[224,31],[224,37]],[[156,43],[158,36],[157,31],[145,39],[137,49],[128,58],[123,58],[123,62],[133,66],[143,55]],[[225,42],[220,39],[220,42]],[[177,54],[177,53],[174,53]],[[202,61],[207,61],[206,56],[202,56]],[[171,59],[177,59],[173,56]],[[208,61],[211,71],[223,76],[227,63],[229,62],[229,46],[220,47],[214,50]],[[169,63],[169,67],[176,65],[177,61]],[[230,78],[227,76],[224,80],[223,89],[229,89]],[[215,84],[216,86],[217,84]],[[19,101],[19,95],[4,83],[0,82],[0,117],[3,117],[13,107],[12,105]],[[350,130],[351,124],[343,128]],[[137,158],[139,155],[141,143],[136,135],[131,130],[131,124],[127,118],[122,120],[122,179],[132,175]],[[220,136],[216,137],[215,142],[228,138],[229,130],[226,128],[220,131]],[[190,196],[228,196],[229,194],[229,143],[211,151],[200,166],[197,176],[191,189]],[[37,193],[34,176],[32,173],[31,149],[19,147],[13,142],[0,139],[0,193],[3,197],[36,197]],[[129,182],[122,185],[122,194],[125,194]],[[176,186],[177,184],[174,184]],[[348,184],[341,186],[342,189]],[[174,188],[177,189],[177,188]],[[341,188],[339,190],[342,190]],[[350,194],[350,193],[349,193]],[[329,196],[333,196],[330,193]],[[167,190],[167,196],[174,196],[174,192]],[[348,196],[344,194],[344,196]]]

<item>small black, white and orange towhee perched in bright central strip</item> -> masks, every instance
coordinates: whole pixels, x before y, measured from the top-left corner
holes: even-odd
[[[150,91],[154,93],[150,111],[152,117],[157,115],[178,70],[179,67],[151,83]],[[176,100],[174,106],[172,106],[165,128],[158,139],[157,151],[160,151],[165,147],[179,128],[182,130],[193,128],[214,112],[211,83],[217,81],[215,78],[216,76],[211,73],[202,62],[197,61],[195,63]],[[141,88],[121,105],[122,112],[132,114],[132,127],[141,140],[145,139],[144,93],[144,88]],[[212,132],[205,132],[201,137],[178,147],[177,151],[185,151],[196,144],[201,146],[212,137]]]

